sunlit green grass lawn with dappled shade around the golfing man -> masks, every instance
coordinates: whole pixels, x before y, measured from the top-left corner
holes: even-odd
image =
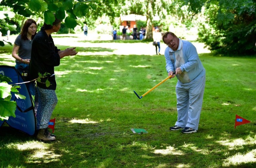
[[[87,44],[77,40],[78,54],[55,68],[56,141],[37,141],[5,124],[0,167],[256,166],[255,57],[199,54],[206,69],[199,128],[182,134],[169,131],[177,120],[176,78],[141,99],[133,93],[141,96],[167,77],[163,55],[116,53],[116,45],[145,42]],[[148,47],[143,50],[150,50],[151,42]],[[13,66],[11,47],[0,50],[1,64]],[[234,129],[236,114],[251,123]],[[131,128],[148,133],[134,134]]]

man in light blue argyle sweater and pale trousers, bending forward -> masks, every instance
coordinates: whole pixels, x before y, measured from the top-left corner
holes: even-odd
[[[183,133],[196,132],[202,109],[205,69],[191,42],[181,40],[172,32],[164,33],[162,39],[167,45],[164,56],[168,76],[178,78],[176,85],[178,120],[170,130],[182,130]]]

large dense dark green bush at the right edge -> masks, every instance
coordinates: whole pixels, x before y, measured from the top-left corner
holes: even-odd
[[[205,3],[199,41],[225,55],[255,55],[256,1],[214,0]]]

